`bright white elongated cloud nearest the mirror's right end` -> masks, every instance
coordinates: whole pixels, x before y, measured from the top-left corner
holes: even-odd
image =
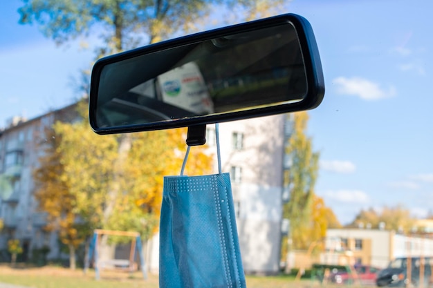
[[[333,80],[337,93],[358,96],[364,100],[378,100],[396,95],[396,88],[382,88],[379,84],[361,77],[338,77]]]

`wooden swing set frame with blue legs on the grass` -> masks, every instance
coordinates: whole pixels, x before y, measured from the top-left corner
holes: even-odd
[[[123,236],[123,237],[131,237],[131,249],[129,251],[129,259],[111,259],[102,261],[100,259],[100,245],[101,238],[103,235],[106,236]],[[136,258],[136,253],[140,258],[140,267],[142,271],[143,278],[147,279],[146,267],[145,267],[145,259],[142,255],[142,245],[140,233],[133,231],[114,231],[114,230],[102,230],[95,229],[93,231],[93,238],[89,247],[89,257],[86,260],[84,265],[84,271],[89,269],[90,261],[93,258],[93,267],[95,268],[95,279],[100,279],[100,270],[106,267],[113,267],[116,270],[129,271],[132,273],[137,269],[137,263],[134,261]]]

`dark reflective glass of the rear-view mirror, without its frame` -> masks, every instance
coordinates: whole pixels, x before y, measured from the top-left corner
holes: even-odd
[[[105,65],[99,128],[300,102],[306,71],[291,23],[146,52]]]

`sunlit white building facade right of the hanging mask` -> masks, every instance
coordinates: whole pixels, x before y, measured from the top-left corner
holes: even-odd
[[[246,273],[279,271],[286,120],[276,115],[220,124],[221,162],[232,177]]]

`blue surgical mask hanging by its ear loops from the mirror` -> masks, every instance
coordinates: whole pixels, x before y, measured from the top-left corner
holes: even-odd
[[[164,177],[159,285],[164,288],[246,287],[229,173]]]

